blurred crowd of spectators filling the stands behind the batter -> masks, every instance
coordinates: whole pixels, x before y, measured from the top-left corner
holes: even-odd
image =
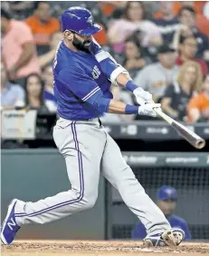
[[[1,108],[56,112],[52,60],[62,39],[59,17],[74,1],[2,2]],[[163,110],[187,123],[209,121],[209,4],[205,1],[79,2],[103,30],[95,39],[153,94]],[[135,103],[112,86],[116,99]],[[107,114],[103,120],[143,117]]]

